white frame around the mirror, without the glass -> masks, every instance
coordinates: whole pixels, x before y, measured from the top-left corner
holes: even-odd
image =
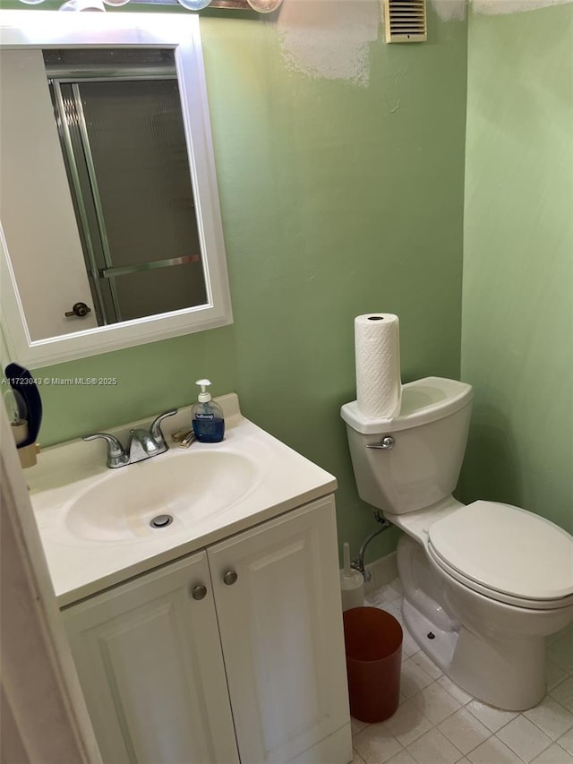
[[[0,47],[171,47],[198,214],[208,304],[133,321],[32,340],[0,224],[2,323],[13,360],[51,365],[128,348],[233,321],[211,141],[207,88],[196,15],[0,11]]]

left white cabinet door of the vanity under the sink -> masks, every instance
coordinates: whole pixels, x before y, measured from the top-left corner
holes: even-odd
[[[238,762],[205,552],[63,616],[105,764]]]

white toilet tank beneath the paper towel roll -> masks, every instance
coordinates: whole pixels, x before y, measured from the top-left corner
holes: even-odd
[[[371,419],[356,401],[346,403],[340,414],[364,502],[402,514],[449,496],[466,451],[473,396],[465,382],[426,377],[402,387],[400,413],[393,419]],[[392,448],[366,448],[388,436]]]

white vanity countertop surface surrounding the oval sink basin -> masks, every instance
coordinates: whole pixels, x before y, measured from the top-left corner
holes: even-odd
[[[241,416],[234,393],[217,400],[225,412],[224,441],[194,442],[188,451],[248,452],[261,466],[261,476],[225,511],[203,517],[191,526],[174,524],[158,528],[147,537],[129,540],[74,537],[66,529],[65,521],[70,503],[89,490],[90,485],[110,479],[111,473],[119,471],[106,467],[104,442],[77,440],[48,448],[39,455],[36,467],[26,470],[30,499],[60,606],[90,597],[336,490],[335,477]],[[181,409],[165,421],[167,441],[168,435],[190,421],[189,412],[190,408]],[[141,425],[149,422],[132,423],[109,432],[125,442],[129,429]],[[174,444],[169,453],[153,459],[170,459],[175,455],[171,451],[182,458],[183,450]],[[145,469],[153,459],[120,470]]]

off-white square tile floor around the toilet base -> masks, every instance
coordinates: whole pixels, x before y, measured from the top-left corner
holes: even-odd
[[[396,579],[365,604],[402,623],[401,596]],[[353,719],[353,764],[573,764],[573,629],[548,640],[548,694],[514,713],[470,697],[403,628],[400,705],[380,724]]]

